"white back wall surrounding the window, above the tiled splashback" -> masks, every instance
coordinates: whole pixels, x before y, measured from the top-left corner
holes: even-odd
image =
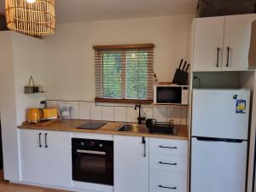
[[[155,44],[154,71],[172,81],[181,58],[188,55],[193,15],[61,24],[44,40],[47,98],[93,101],[94,50],[99,44]]]

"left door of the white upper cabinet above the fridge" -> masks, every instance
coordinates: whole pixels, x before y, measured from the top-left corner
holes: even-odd
[[[221,71],[224,17],[194,20],[193,71]]]

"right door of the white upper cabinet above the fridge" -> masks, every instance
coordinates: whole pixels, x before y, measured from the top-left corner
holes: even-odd
[[[225,16],[224,71],[247,70],[253,20],[256,20],[255,14]]]

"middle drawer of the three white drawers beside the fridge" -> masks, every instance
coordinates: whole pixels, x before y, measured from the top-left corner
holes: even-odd
[[[188,171],[188,157],[165,154],[150,154],[149,167],[150,169],[186,173]]]

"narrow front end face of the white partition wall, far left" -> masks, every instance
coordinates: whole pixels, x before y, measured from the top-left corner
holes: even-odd
[[[12,33],[0,32],[0,112],[3,138],[3,168],[6,179],[19,180],[16,129],[15,73]]]

